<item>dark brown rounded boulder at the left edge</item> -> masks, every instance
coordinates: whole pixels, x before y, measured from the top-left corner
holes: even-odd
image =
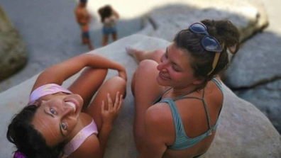
[[[0,6],[0,81],[22,69],[26,62],[27,52],[21,35]]]

